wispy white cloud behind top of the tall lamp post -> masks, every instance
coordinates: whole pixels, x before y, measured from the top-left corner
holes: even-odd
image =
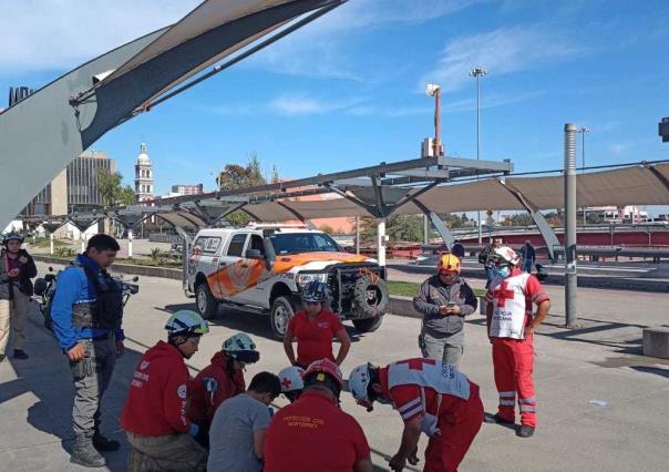
[[[542,24],[502,28],[467,35],[446,44],[439,65],[419,82],[441,84],[444,92],[459,90],[472,79],[469,72],[482,65],[491,74],[519,72],[585,54],[572,35]]]

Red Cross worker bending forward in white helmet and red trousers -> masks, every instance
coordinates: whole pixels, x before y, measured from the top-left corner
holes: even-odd
[[[401,471],[419,463],[421,432],[430,437],[424,472],[457,471],[483,421],[478,386],[453,365],[436,359],[408,359],[379,368],[358,366],[349,389],[359,404],[392,403],[404,421],[402,443],[390,460]]]

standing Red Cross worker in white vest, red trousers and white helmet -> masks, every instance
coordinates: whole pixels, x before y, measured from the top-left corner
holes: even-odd
[[[494,278],[485,295],[487,335],[493,345],[495,386],[500,404],[487,423],[513,424],[516,396],[521,411],[517,434],[529,438],[537,425],[534,370],[534,330],[542,324],[550,301],[538,279],[519,267],[519,257],[502,246],[488,255]],[[537,307],[533,315],[534,306]]]

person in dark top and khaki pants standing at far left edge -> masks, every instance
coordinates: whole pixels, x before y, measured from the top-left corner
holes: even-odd
[[[25,317],[32,296],[31,278],[38,275],[32,256],[21,249],[23,237],[18,233],[4,236],[4,250],[0,257],[0,362],[9,341],[10,327],[14,337],[14,359],[28,359],[23,350]]]

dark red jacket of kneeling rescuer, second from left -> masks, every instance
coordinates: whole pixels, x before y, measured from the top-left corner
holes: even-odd
[[[244,372],[236,370],[230,378],[228,359],[224,351],[212,358],[212,363],[204,368],[188,388],[188,417],[199,425],[212,423],[214,413],[220,403],[228,398],[246,391]]]

